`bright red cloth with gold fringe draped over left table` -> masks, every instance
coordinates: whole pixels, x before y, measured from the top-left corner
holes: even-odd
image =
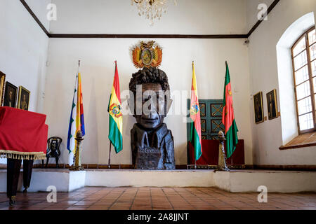
[[[45,158],[48,126],[46,115],[0,107],[0,155],[2,158]]]

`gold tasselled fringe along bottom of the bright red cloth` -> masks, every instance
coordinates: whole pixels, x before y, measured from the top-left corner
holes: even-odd
[[[46,154],[43,152],[22,153],[17,151],[0,150],[0,158],[15,160],[45,160]]]

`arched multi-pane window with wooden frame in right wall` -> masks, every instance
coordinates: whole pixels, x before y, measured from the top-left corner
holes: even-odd
[[[298,132],[316,130],[316,35],[306,31],[292,47]]]

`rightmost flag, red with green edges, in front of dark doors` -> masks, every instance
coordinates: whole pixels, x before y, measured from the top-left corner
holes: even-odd
[[[230,70],[228,69],[228,63],[226,62],[226,76],[225,76],[225,87],[224,87],[224,108],[223,108],[223,125],[225,126],[225,137],[226,137],[226,151],[227,158],[232,156],[234,153],[238,137],[238,128],[234,116],[234,107],[232,104],[232,86],[230,84]]]

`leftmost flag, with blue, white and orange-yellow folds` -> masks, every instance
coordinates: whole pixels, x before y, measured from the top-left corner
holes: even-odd
[[[74,164],[74,155],[76,154],[77,149],[77,141],[74,138],[79,131],[82,132],[82,136],[86,134],[86,130],[84,128],[84,103],[82,100],[81,74],[77,73],[67,139],[67,149],[69,151],[68,164],[70,166]]]

